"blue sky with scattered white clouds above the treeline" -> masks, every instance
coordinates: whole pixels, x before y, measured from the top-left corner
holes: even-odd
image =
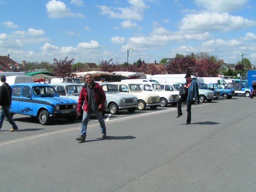
[[[256,64],[255,0],[0,0],[0,55],[145,63],[209,52]]]

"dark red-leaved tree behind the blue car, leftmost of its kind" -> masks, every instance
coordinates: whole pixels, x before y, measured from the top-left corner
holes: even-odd
[[[71,58],[71,60],[67,61],[67,57],[64,60],[57,60],[56,58],[53,59],[54,63],[53,63],[53,73],[56,77],[61,77],[61,78],[65,78],[65,77],[74,77],[75,74],[73,73],[72,70],[72,64],[73,61],[75,59]]]

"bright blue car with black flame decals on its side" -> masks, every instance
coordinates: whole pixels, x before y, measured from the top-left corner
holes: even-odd
[[[76,119],[77,102],[61,98],[49,84],[12,84],[11,115],[22,114],[38,117],[42,125],[48,125],[52,118]]]

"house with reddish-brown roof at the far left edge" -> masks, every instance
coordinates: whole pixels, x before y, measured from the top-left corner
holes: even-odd
[[[26,61],[22,61],[22,64],[13,61],[9,54],[8,56],[0,56],[0,70],[3,72],[24,72],[28,73],[26,68]]]

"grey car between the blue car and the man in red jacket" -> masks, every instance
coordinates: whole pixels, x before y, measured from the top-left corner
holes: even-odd
[[[50,84],[55,88],[58,95],[63,98],[74,99],[78,102],[83,85],[79,83],[52,83]],[[105,108],[107,101],[105,102]],[[102,111],[102,116],[105,116],[106,111]],[[76,116],[76,119],[82,119],[83,113],[80,116]]]

